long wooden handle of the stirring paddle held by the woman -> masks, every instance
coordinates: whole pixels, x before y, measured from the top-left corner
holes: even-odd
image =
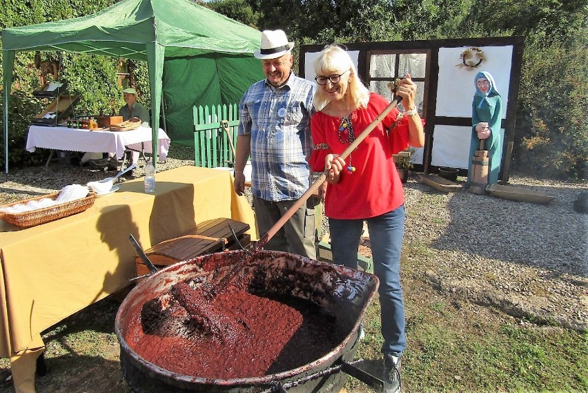
[[[382,122],[382,120],[384,119],[384,117],[386,117],[386,115],[388,115],[390,113],[390,111],[393,110],[393,108],[395,108],[398,103],[402,101],[402,97],[397,96],[395,97],[392,102],[386,106],[386,108],[384,108],[384,111],[382,111],[382,113],[380,113],[380,115],[378,115],[378,117],[376,117],[373,122],[371,122],[369,124],[369,126],[367,126],[364,131],[362,131],[362,133],[357,136],[355,138],[355,140],[353,142],[351,142],[351,144],[349,144],[349,146],[347,146],[347,148],[343,151],[343,153],[340,154],[340,157],[345,160],[350,154],[351,152],[357,147],[359,146],[360,143],[362,143],[362,141],[369,135],[369,133],[371,133],[371,131],[373,131],[373,129],[378,126],[378,124],[380,124],[380,122]],[[277,220],[277,222],[275,224],[273,224],[273,227],[271,227],[267,233],[262,236],[261,239],[259,239],[259,242],[255,243],[255,246],[253,246],[254,248],[261,248],[264,247],[264,245],[266,245],[266,243],[273,238],[273,236],[275,235],[275,233],[277,233],[277,231],[280,231],[280,229],[284,226],[284,224],[286,224],[286,221],[290,220],[290,218],[294,215],[294,213],[300,209],[300,207],[302,206],[302,204],[304,202],[306,202],[306,200],[308,200],[308,198],[311,197],[311,195],[313,195],[313,193],[315,193],[315,191],[317,191],[317,189],[320,187],[320,185],[326,180],[326,173],[322,173],[322,175],[320,175],[320,177],[315,180],[315,182],[313,182],[313,184],[311,184],[311,186],[308,188],[308,190],[302,194],[302,197],[300,197],[300,199],[298,199],[291,207],[290,209],[288,209],[286,211],[286,213],[284,213],[284,215],[282,215],[282,217],[280,218],[280,220]]]

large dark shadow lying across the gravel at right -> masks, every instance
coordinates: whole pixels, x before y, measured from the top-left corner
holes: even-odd
[[[587,278],[586,216],[573,209],[580,190],[546,184],[518,187],[553,194],[556,199],[550,204],[535,204],[476,195],[464,189],[455,191],[447,203],[449,227],[431,247],[546,269],[550,272],[547,279],[560,278],[562,274]],[[424,192],[444,194],[432,188]],[[484,231],[487,228],[493,228],[489,231],[491,239]],[[508,230],[496,230],[500,228]],[[533,231],[539,234],[529,236]]]

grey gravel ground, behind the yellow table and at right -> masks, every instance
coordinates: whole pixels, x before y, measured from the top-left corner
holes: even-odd
[[[189,148],[172,147],[157,171],[191,164]],[[63,164],[10,170],[0,173],[0,204],[113,174]],[[133,175],[143,176],[143,165]],[[542,205],[467,191],[441,193],[411,174],[404,187],[404,256],[410,269],[403,274],[522,320],[585,330],[588,214],[576,213],[572,204],[587,184],[516,176],[510,184],[557,198]]]

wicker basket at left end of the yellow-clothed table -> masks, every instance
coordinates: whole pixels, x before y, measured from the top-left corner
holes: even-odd
[[[9,207],[14,206],[15,204],[26,204],[31,200],[41,200],[43,198],[49,198],[55,200],[59,195],[59,192],[52,193],[48,195],[41,195],[35,198],[28,198],[26,200],[20,200],[18,202],[12,202],[9,204],[4,204],[0,207]],[[59,220],[59,218],[67,217],[68,215],[81,213],[82,211],[88,209],[88,207],[94,204],[94,200],[96,199],[96,193],[94,191],[90,191],[86,198],[81,198],[77,200],[72,200],[71,202],[56,204],[54,206],[46,207],[43,209],[37,209],[32,211],[23,211],[22,213],[2,213],[0,212],[0,220],[4,220],[9,222],[12,225],[16,225],[17,227],[22,228],[29,228],[35,227],[39,224],[45,224],[46,222]]]

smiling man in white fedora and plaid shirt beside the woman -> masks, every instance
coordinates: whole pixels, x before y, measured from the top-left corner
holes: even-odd
[[[275,224],[311,184],[311,114],[315,84],[294,75],[294,43],[282,30],[264,30],[261,59],[266,79],[253,84],[239,103],[235,191],[245,189],[243,170],[251,155],[251,191],[259,233]],[[314,206],[302,207],[267,243],[266,249],[316,258]]]

